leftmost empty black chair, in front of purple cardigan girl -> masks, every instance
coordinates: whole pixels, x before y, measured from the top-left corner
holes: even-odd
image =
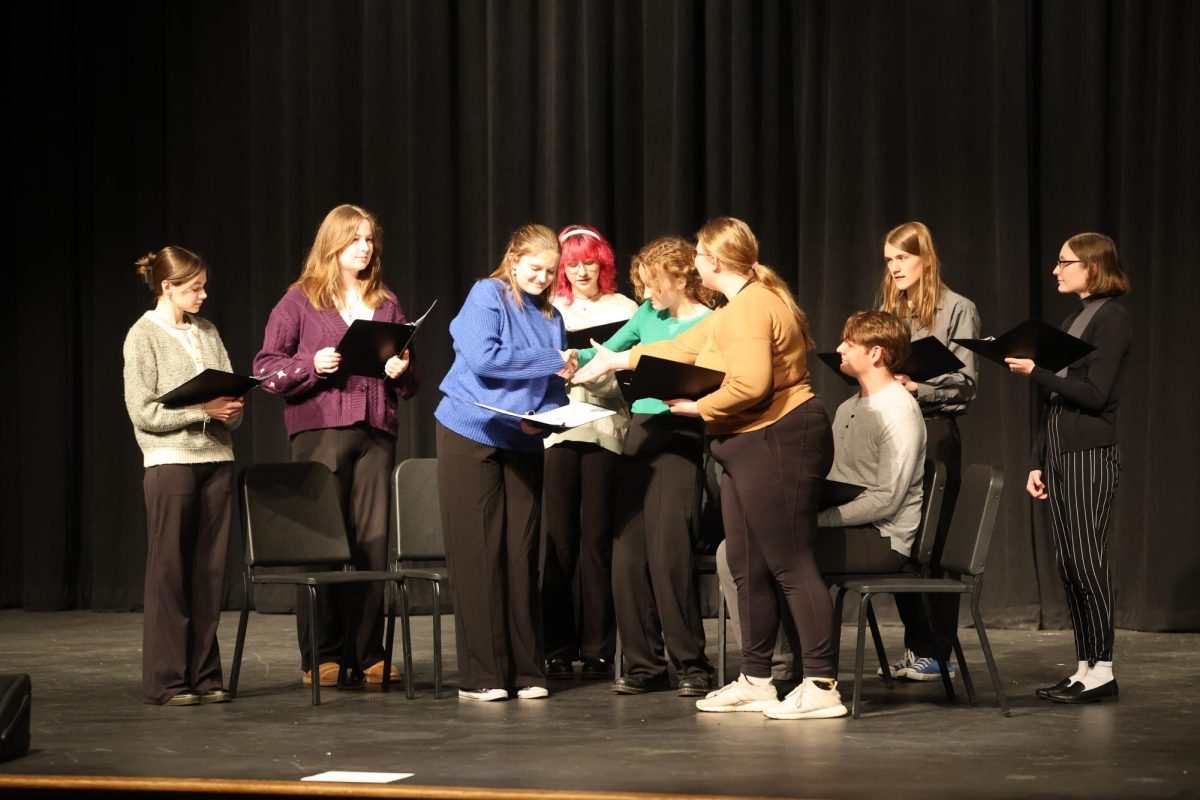
[[[394,572],[355,571],[350,565],[350,547],[338,499],[337,481],[324,464],[313,462],[288,464],[254,464],[241,471],[238,481],[241,506],[241,531],[245,545],[246,569],[242,572],[245,596],[238,620],[238,642],[233,654],[233,674],[229,696],[238,694],[238,676],[250,620],[250,603],[254,584],[293,584],[308,590],[308,654],[312,664],[312,704],[320,705],[319,654],[317,651],[318,618],[317,588],[354,583],[402,579]],[[302,573],[260,573],[259,567],[301,566],[337,570]],[[388,615],[383,687],[391,678],[392,638],[396,618]],[[343,654],[349,655],[348,652]],[[343,663],[346,658],[343,657]],[[344,667],[338,670],[337,685],[343,685]]]

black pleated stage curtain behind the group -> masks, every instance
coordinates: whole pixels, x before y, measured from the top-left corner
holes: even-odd
[[[822,348],[872,303],[881,237],[934,230],[985,332],[1055,323],[1049,264],[1080,230],[1121,245],[1134,293],[1112,528],[1118,624],[1200,628],[1200,393],[1186,279],[1200,219],[1198,6],[1188,0],[74,4],[8,6],[10,374],[0,604],[134,608],[140,457],[120,345],[148,307],[132,261],[181,243],[204,313],[248,368],[324,212],[374,210],[388,279],[433,299],[397,456],[433,455],[444,330],[527,221],[588,222],[622,264],[648,239],[745,218]],[[830,408],[845,387],[824,367]],[[1022,492],[1037,409],[982,366],[967,462],[1008,488],[992,621],[1064,624]],[[287,458],[257,396],[242,463]],[[1190,487],[1190,488],[1188,488]],[[240,546],[230,552],[230,576]],[[240,591],[230,581],[230,601]]]

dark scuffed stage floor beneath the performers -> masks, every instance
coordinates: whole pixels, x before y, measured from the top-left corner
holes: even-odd
[[[1070,669],[1069,632],[992,631],[1013,708],[1001,716],[978,642],[962,631],[979,705],[940,682],[864,684],[860,720],[782,722],[700,714],[673,692],[614,696],[607,682],[551,685],[547,700],[460,702],[452,620],[445,697],[432,697],[430,619],[416,618],[418,697],[403,688],[300,686],[290,616],[253,614],[234,703],[139,702],[142,615],[0,612],[0,672],[34,681],[32,750],[5,775],[299,781],[325,770],[413,772],[397,786],[662,792],[803,798],[1200,796],[1200,634],[1120,631],[1121,699],[1087,706],[1033,698]],[[222,652],[233,654],[236,614]],[[708,620],[715,643],[714,620]],[[853,630],[844,630],[850,703]],[[884,627],[889,652],[900,630]],[[397,634],[397,654],[398,654]],[[715,650],[712,644],[710,654]],[[870,656],[870,654],[869,654]],[[737,675],[737,655],[731,652]],[[1072,663],[1073,667],[1073,663]],[[228,667],[227,667],[228,669]],[[227,673],[228,674],[228,673]]]

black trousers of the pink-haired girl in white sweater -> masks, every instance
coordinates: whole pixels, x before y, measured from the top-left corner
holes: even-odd
[[[620,456],[587,441],[548,447],[541,608],[547,658],[612,661],[612,519]]]

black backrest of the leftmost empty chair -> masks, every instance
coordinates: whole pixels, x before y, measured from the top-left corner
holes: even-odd
[[[246,566],[350,560],[337,480],[324,464],[253,464],[238,488]]]

